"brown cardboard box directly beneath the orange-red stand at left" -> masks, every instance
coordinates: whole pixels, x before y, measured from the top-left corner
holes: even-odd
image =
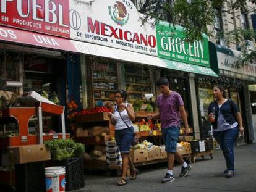
[[[14,164],[51,160],[51,152],[44,144],[8,147],[8,153]]]

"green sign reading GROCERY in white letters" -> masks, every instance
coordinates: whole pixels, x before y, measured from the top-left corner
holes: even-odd
[[[207,36],[188,43],[182,31],[182,27],[165,22],[156,25],[158,57],[210,67]]]

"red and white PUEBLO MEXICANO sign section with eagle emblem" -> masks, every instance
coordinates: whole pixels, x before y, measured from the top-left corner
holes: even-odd
[[[130,0],[2,0],[2,25],[156,56],[156,34]]]

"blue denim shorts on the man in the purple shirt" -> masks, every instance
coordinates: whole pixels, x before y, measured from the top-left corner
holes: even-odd
[[[165,143],[166,152],[176,152],[177,141],[179,138],[179,127],[171,126],[168,128],[162,128],[163,140]]]

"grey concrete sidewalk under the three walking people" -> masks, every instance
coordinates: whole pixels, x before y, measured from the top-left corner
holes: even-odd
[[[175,165],[172,183],[161,183],[166,173],[166,164],[139,167],[140,173],[136,180],[127,180],[127,185],[117,186],[116,176],[85,174],[85,187],[75,192],[94,191],[179,191],[179,192],[216,192],[216,191],[256,191],[256,143],[236,146],[235,149],[236,175],[225,178],[226,169],[221,150],[216,150],[213,159],[210,156],[197,158],[192,164],[192,170],[187,177],[179,178],[181,167]]]

